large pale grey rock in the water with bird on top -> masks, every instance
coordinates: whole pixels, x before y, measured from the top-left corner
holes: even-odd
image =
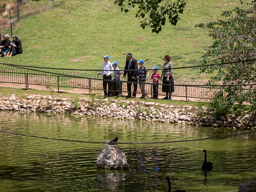
[[[97,158],[97,168],[128,168],[125,154],[119,148],[107,147]]]

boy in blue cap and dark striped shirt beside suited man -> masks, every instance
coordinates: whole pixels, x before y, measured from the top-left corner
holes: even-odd
[[[140,86],[140,90],[142,92],[142,96],[140,98],[144,98],[145,96],[148,98],[146,88],[145,88],[145,82],[149,76],[149,73],[148,73],[147,68],[144,66],[144,60],[140,59],[138,61],[138,63],[139,63],[140,68],[139,68],[139,74],[138,74],[137,78],[139,79],[139,86]]]

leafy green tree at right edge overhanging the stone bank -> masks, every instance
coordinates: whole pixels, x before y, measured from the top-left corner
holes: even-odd
[[[256,0],[250,4],[241,1],[241,7],[223,12],[226,20],[210,22],[200,27],[210,28],[209,35],[214,39],[210,50],[203,56],[204,63],[226,63],[256,58]],[[256,62],[240,62],[201,67],[201,72],[212,73],[210,84],[221,82],[227,85],[216,92],[210,102],[210,107],[216,109],[216,114],[226,114],[232,105],[248,103],[251,110],[256,110]],[[218,102],[216,102],[218,101]]]

